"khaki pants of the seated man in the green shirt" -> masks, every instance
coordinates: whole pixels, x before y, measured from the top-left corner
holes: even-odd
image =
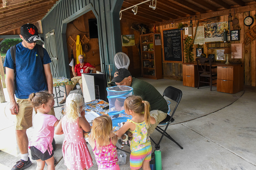
[[[166,118],[167,113],[161,111],[161,110],[151,110],[150,112],[150,116],[154,117],[156,120],[155,124],[150,124],[150,128],[147,129],[147,134],[151,135],[156,126],[159,124],[159,122],[163,121]]]

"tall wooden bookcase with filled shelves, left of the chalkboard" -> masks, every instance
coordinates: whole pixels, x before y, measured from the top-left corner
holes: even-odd
[[[162,79],[161,45],[155,45],[154,37],[155,33],[140,35],[142,75],[145,78]]]

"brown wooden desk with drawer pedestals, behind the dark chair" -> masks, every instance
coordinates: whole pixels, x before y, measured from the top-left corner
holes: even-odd
[[[243,90],[243,64],[212,63],[212,66],[217,66],[217,91],[235,94]],[[183,63],[182,70],[183,85],[197,87],[199,79],[197,62]]]

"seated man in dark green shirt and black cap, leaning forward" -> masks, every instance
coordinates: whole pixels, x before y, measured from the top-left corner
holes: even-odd
[[[166,118],[168,112],[168,105],[163,96],[154,86],[143,80],[132,77],[131,73],[124,68],[116,70],[111,82],[115,82],[118,86],[132,87],[134,95],[141,96],[143,100],[150,103],[150,115],[156,120],[156,123],[151,125],[148,129],[148,134],[152,134],[159,122]]]

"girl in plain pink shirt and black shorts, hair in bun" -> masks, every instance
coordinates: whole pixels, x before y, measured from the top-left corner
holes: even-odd
[[[40,91],[31,93],[29,101],[37,111],[34,116],[35,134],[29,142],[31,158],[37,162],[37,170],[43,170],[45,163],[48,170],[54,170],[54,157],[52,140],[54,136],[54,126],[57,126],[59,120],[54,115],[49,115],[51,111],[53,96],[49,93]]]

